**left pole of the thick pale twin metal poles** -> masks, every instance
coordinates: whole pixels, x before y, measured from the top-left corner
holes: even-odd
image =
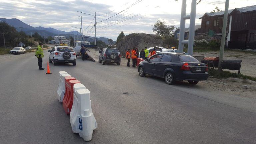
[[[182,43],[182,41],[184,40],[184,35],[185,35],[186,19],[184,19],[184,16],[186,16],[186,9],[187,9],[186,2],[187,0],[182,0],[181,15],[180,15],[179,53],[183,53],[183,47],[184,47],[184,44]]]

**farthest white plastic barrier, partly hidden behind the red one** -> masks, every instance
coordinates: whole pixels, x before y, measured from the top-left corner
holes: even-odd
[[[60,80],[59,80],[59,87],[57,90],[57,97],[60,103],[62,103],[64,94],[65,94],[65,77],[70,76],[67,72],[65,71],[60,71]]]

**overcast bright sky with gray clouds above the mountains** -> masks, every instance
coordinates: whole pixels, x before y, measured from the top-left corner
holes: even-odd
[[[190,12],[190,3],[191,0],[187,0],[187,13]],[[157,19],[179,27],[181,4],[182,0],[177,2],[174,0],[1,0],[0,17],[17,18],[33,27],[52,27],[58,30],[72,31],[71,26],[81,27],[79,16],[82,16],[83,34],[94,36],[94,27],[91,29],[94,24],[93,16],[77,11],[92,15],[97,12],[97,37],[116,40],[121,31],[125,35],[131,33],[153,34],[152,25]],[[230,0],[229,9],[255,4],[256,0]],[[196,9],[196,25],[201,24],[199,17],[205,12],[214,10],[215,6],[224,10],[225,0],[202,0]],[[112,18],[107,19],[109,17]],[[189,20],[186,20],[186,27],[188,26]],[[77,31],[80,30],[77,29]]]

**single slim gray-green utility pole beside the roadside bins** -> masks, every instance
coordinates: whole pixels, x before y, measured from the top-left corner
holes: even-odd
[[[218,72],[219,73],[222,70],[222,60],[223,60],[223,53],[224,53],[225,40],[226,40],[227,22],[228,22],[228,7],[229,7],[229,0],[226,0],[224,17],[223,17],[221,43],[220,43],[220,56],[219,56],[219,64],[218,64]]]

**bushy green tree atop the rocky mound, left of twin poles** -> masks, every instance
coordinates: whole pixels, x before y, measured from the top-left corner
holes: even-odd
[[[153,26],[153,32],[155,32],[157,35],[163,36],[163,37],[173,37],[174,36],[174,25],[166,25],[165,21],[161,22],[157,19],[157,22],[152,25]]]

